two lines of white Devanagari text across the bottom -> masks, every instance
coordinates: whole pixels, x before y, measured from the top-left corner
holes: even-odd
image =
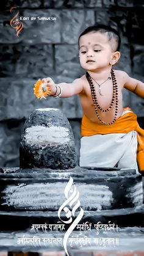
[[[57,224],[32,224],[31,231],[32,233],[29,233],[29,236],[21,236],[18,238],[17,243],[24,247],[41,247],[43,248],[49,248],[54,249],[57,247],[63,246],[63,239],[60,235],[51,236],[49,235],[49,230],[51,232],[63,232],[65,230],[65,224],[62,224],[62,222],[57,221]],[[94,227],[94,229],[93,229]],[[91,230],[92,228],[92,230]],[[113,238],[111,235],[118,233],[118,225],[115,225],[115,223],[111,224],[111,221],[109,221],[109,224],[103,224],[102,222],[97,222],[96,224],[92,224],[88,221],[84,222],[83,224],[77,224],[76,229],[79,230],[79,233],[77,233],[77,230],[74,231],[74,235],[70,236],[67,240],[67,244],[70,247],[74,248],[82,248],[83,246],[103,246],[103,247],[112,247],[112,246],[119,246],[119,238],[115,237]],[[91,237],[88,237],[85,235],[85,232],[90,230]],[[108,233],[110,232],[110,235]],[[99,238],[99,234],[107,233],[107,237],[101,237]],[[93,237],[92,237],[93,236]],[[68,255],[68,254],[67,254]]]

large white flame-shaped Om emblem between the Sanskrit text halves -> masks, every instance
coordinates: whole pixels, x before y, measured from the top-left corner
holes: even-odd
[[[70,196],[69,196],[70,194]],[[65,224],[70,224],[71,222],[73,222],[69,229],[67,230],[67,232],[65,233],[65,236],[63,237],[63,247],[65,249],[66,254],[69,256],[68,251],[67,251],[67,240],[68,237],[70,236],[71,232],[73,232],[74,228],[76,227],[76,225],[79,223],[79,221],[81,221],[83,215],[84,215],[84,211],[82,210],[81,206],[80,206],[80,201],[79,199],[79,191],[77,191],[76,186],[73,184],[73,178],[70,177],[70,180],[68,181],[67,185],[65,186],[65,197],[67,198],[67,200],[65,200],[65,202],[60,206],[59,211],[58,211],[58,216],[60,221],[64,222]],[[67,207],[67,205],[70,206],[70,208],[72,208],[72,211],[70,211],[70,209]],[[75,213],[77,209],[80,209],[79,214],[77,215],[76,219],[72,218],[75,217]],[[67,221],[64,221],[60,218],[60,213],[63,211],[65,211],[65,216],[67,217]]]

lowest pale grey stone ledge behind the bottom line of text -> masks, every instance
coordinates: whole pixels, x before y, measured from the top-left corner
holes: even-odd
[[[74,230],[70,235],[70,240],[67,242],[67,249],[70,256],[74,255],[87,255],[88,251],[144,251],[143,244],[143,227],[118,227],[118,232],[103,232],[103,230],[96,232],[96,230],[87,230],[81,232]],[[0,251],[13,251],[13,252],[55,252],[63,251],[63,237],[64,232],[39,232],[34,233],[29,229],[21,232],[0,232]],[[33,244],[22,243],[21,238],[35,239]],[[36,240],[38,238],[38,241]],[[85,238],[83,243],[79,240],[71,240],[71,238]],[[52,243],[48,243],[48,240]],[[56,243],[56,240],[57,243]],[[20,242],[21,241],[21,242]],[[108,244],[107,241],[110,241]],[[81,246],[82,243],[82,246]],[[75,254],[74,254],[75,252]],[[77,252],[77,254],[76,254]],[[85,252],[85,254],[82,254]],[[52,254],[53,255],[53,254]],[[54,254],[55,256],[56,254]],[[65,255],[65,254],[64,254]],[[89,255],[89,254],[88,254]],[[93,255],[93,254],[90,254]],[[101,254],[100,254],[101,255]],[[103,255],[103,254],[102,254]],[[106,254],[107,255],[107,254]],[[109,254],[108,254],[109,255]],[[111,255],[111,254],[110,254]],[[114,254],[116,255],[116,254]],[[121,254],[123,255],[123,254]],[[126,254],[127,255],[127,254]],[[128,254],[129,255],[129,254]],[[130,256],[129,255],[129,256]],[[137,255],[137,254],[134,254]],[[143,254],[142,254],[143,255]],[[119,256],[119,254],[118,254]]]

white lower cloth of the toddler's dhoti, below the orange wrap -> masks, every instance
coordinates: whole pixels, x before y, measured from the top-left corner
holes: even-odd
[[[117,166],[138,172],[136,131],[82,137],[79,166]]]

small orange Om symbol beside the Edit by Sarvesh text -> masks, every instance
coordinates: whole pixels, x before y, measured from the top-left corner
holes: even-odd
[[[16,10],[16,15],[12,18],[12,20],[10,20],[10,26],[13,27],[13,29],[16,29],[16,35],[18,36],[18,34],[20,33],[20,31],[23,29],[23,23],[20,22],[18,20],[18,18],[16,18],[19,14],[18,10],[16,9],[15,6],[10,8],[10,12],[12,13],[12,10]],[[18,36],[19,37],[19,36]]]

